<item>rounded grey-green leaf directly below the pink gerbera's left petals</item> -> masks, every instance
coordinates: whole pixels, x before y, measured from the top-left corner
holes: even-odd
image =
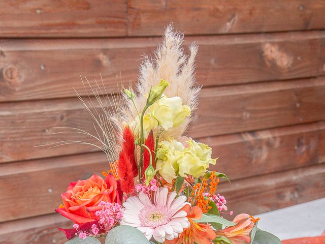
[[[108,232],[105,244],[150,244],[147,237],[138,229],[120,225]]]

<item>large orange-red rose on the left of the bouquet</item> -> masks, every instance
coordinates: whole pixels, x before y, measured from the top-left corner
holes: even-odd
[[[101,201],[121,204],[119,193],[122,193],[117,187],[113,175],[108,175],[105,180],[98,175],[92,175],[89,179],[71,182],[67,192],[61,194],[64,208],[59,207],[55,211],[77,224],[99,220],[95,211],[101,209],[98,206]]]

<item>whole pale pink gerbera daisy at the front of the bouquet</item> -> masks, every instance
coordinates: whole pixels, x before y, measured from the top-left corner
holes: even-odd
[[[181,210],[186,204],[185,196],[176,197],[176,192],[168,193],[161,187],[155,192],[154,203],[144,192],[139,197],[129,197],[124,203],[121,225],[133,226],[148,238],[158,242],[173,240],[190,226],[187,212]]]

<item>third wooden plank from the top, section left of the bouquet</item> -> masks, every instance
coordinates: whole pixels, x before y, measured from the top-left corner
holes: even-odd
[[[95,151],[96,147],[73,144],[53,147],[48,143],[64,140],[97,143],[95,139],[79,134],[54,134],[73,127],[96,135],[94,120],[78,99],[48,100],[42,102],[8,103],[0,105],[0,162],[52,157]]]

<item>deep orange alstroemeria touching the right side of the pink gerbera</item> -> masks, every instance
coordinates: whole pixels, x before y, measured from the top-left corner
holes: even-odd
[[[197,223],[193,219],[201,219],[203,212],[198,206],[191,207],[185,205],[184,211],[187,212],[187,218],[190,223],[190,227],[184,229],[179,234],[178,238],[173,240],[165,240],[166,244],[193,244],[194,241],[200,244],[211,244],[211,241],[216,237],[214,231],[207,224]]]

